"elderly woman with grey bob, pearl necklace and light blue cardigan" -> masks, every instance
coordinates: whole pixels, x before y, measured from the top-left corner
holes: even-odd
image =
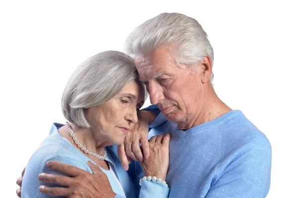
[[[99,166],[107,176],[108,180],[103,182],[112,188],[113,197],[167,197],[169,189],[164,181],[155,182],[152,180],[156,179],[149,177],[145,178],[146,182],[142,182],[144,179],[140,182],[137,178],[139,174],[125,171],[117,156],[116,145],[124,141],[125,135],[138,122],[137,112],[144,103],[144,95],[134,60],[129,56],[107,51],[83,62],[74,71],[62,96],[63,115],[69,122],[66,125],[54,123],[50,135],[30,158],[23,177],[22,198],[49,197],[40,191],[45,192],[43,189],[46,186],[55,185],[40,182],[38,178],[47,174],[62,174],[48,168],[47,162],[51,160],[90,173],[90,167]],[[150,141],[151,147],[168,148],[169,135],[154,139]],[[154,142],[157,142],[156,145]],[[167,170],[168,149],[160,149],[159,153],[167,156],[159,164]],[[150,157],[156,155],[158,153]],[[142,167],[155,167],[144,163]],[[154,176],[154,170],[150,171],[144,168],[145,175]],[[159,177],[165,179],[166,171]]]

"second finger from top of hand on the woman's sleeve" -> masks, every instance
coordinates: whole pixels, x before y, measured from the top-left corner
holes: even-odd
[[[53,175],[53,174],[47,174],[47,173],[41,173],[38,175],[38,180],[41,182],[59,184],[61,186],[71,186],[73,183],[72,179],[73,178],[63,176],[63,175]]]

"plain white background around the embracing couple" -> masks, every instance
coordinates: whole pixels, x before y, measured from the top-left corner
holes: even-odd
[[[15,181],[31,154],[53,122],[65,123],[60,99],[76,66],[101,51],[122,51],[133,28],[161,12],[201,23],[215,51],[216,92],[271,142],[268,198],[298,197],[294,2],[1,1],[0,197],[16,197]]]

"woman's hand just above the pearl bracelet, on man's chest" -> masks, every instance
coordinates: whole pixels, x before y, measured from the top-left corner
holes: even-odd
[[[150,156],[141,163],[145,176],[156,176],[165,180],[169,167],[170,138],[169,133],[151,137],[149,141]]]

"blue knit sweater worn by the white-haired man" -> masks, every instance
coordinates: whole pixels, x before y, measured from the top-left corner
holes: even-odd
[[[171,133],[166,177],[170,198],[264,198],[268,194],[271,145],[241,111],[230,111],[187,131],[159,114],[150,127],[154,128],[149,138]]]

